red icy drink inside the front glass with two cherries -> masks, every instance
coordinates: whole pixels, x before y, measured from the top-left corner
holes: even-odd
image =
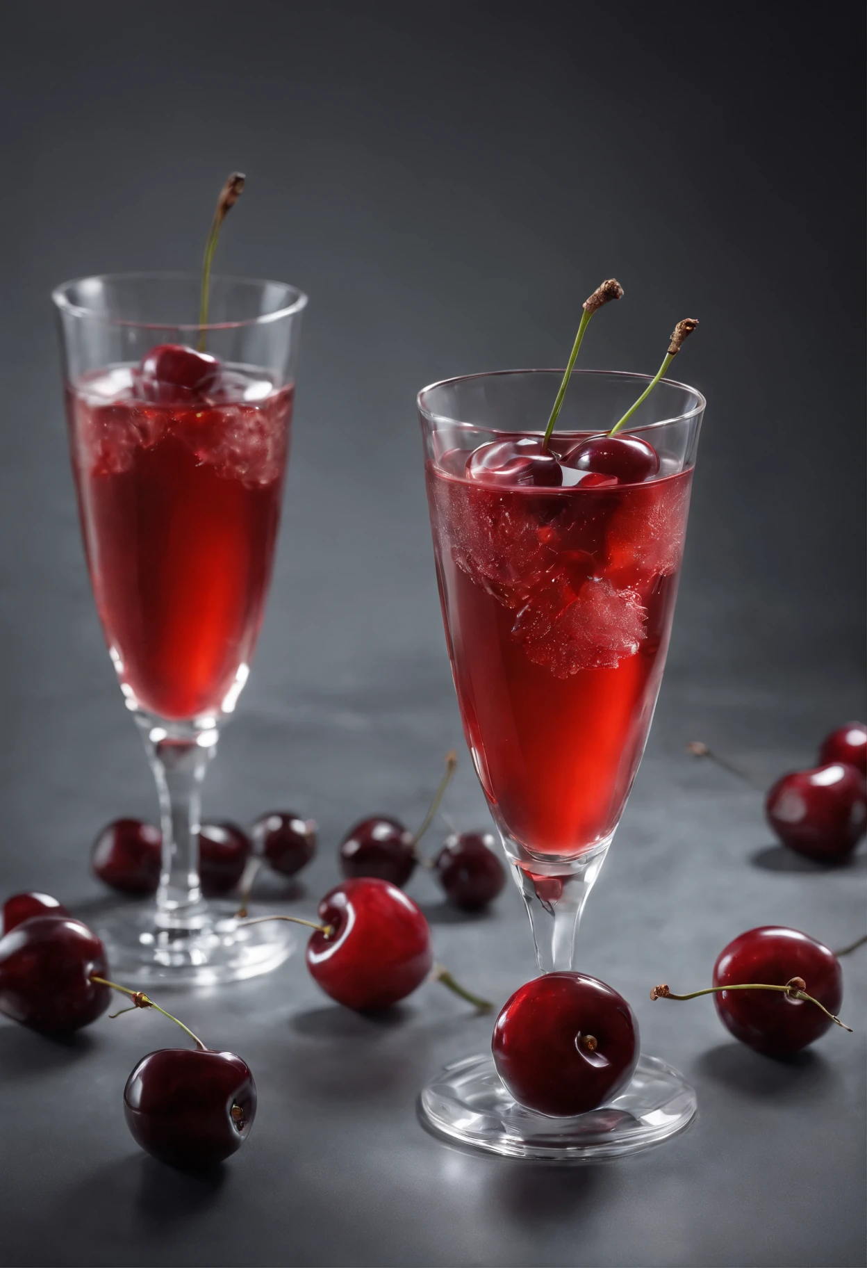
[[[494,488],[466,479],[466,458],[426,473],[464,733],[499,824],[536,856],[574,858],[613,832],[641,760],[692,470]]]

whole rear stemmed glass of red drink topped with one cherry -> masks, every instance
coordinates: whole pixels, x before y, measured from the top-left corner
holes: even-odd
[[[293,946],[279,922],[238,928],[237,904],[204,902],[198,836],[205,770],[262,621],[307,297],[213,278],[202,326],[200,287],[119,274],[52,297],[90,579],[160,796],[156,904],[117,904],[98,926],[134,981],[247,978]],[[171,349],[148,358],[165,345],[217,360],[190,387]]]

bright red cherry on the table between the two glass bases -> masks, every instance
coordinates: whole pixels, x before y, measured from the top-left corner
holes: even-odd
[[[389,1008],[431,971],[427,921],[395,885],[368,876],[346,880],[318,910],[332,932],[311,935],[307,967],[338,1004],[360,1012]]]

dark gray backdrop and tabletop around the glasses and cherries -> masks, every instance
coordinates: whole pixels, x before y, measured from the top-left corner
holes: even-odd
[[[153,814],[98,628],[61,417],[51,287],[198,266],[213,199],[248,185],[223,271],[311,295],[292,472],[254,675],[208,785],[214,815],[321,823],[309,914],[355,818],[416,822],[460,744],[414,416],[436,378],[563,364],[616,275],[584,365],[678,364],[709,410],[669,667],[648,756],[591,902],[582,966],[635,1004],[695,1080],[677,1141],[546,1169],[426,1135],[414,1098],[489,1019],[425,987],[347,1014],[300,960],[175,999],[247,1058],[260,1117],[221,1177],[137,1153],[120,1115],[153,1017],[68,1045],[0,1026],[0,1255],[20,1264],[859,1264],[863,1046],[788,1064],[729,1041],[702,984],[735,933],[863,928],[863,856],[823,872],[774,848],[759,784],[863,710],[862,29],[787,5],[8,4],[0,550],[3,891],[98,896],[86,852]],[[465,760],[449,799],[484,823]],[[275,884],[274,896],[280,890]],[[458,919],[411,893],[439,954],[502,1002],[532,975],[510,889]],[[286,896],[285,894],[283,896]],[[292,895],[289,895],[292,896]],[[86,907],[85,907],[86,909]],[[858,970],[845,1012],[863,1031]]]

